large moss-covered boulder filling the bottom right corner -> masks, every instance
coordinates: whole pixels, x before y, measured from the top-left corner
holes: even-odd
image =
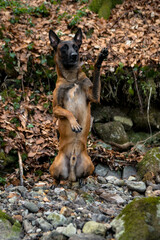
[[[160,198],[133,200],[111,222],[116,240],[160,239]]]

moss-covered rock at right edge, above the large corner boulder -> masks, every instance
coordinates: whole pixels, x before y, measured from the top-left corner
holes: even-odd
[[[160,147],[149,150],[137,165],[138,174],[144,180],[151,180],[160,173]]]

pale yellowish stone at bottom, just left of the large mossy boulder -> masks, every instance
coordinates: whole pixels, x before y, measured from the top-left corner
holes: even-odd
[[[105,236],[107,232],[107,227],[105,224],[89,221],[85,223],[82,231],[83,233],[87,233],[87,234],[96,234],[96,235]]]

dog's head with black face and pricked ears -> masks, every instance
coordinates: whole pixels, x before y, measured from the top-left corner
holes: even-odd
[[[63,66],[66,69],[76,67],[79,62],[79,48],[82,44],[81,29],[71,41],[61,41],[52,30],[49,32],[49,39]]]

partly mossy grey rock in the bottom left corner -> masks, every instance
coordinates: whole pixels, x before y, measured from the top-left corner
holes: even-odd
[[[1,240],[19,240],[21,230],[21,224],[17,220],[14,220],[8,214],[0,210]]]

